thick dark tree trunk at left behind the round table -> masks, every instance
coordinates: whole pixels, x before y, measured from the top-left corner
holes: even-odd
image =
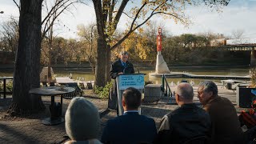
[[[45,109],[40,96],[29,94],[30,89],[40,86],[42,0],[21,0],[20,3],[11,114]]]

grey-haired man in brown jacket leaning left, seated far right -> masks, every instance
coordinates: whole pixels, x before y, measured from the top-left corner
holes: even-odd
[[[201,82],[198,98],[203,109],[210,114],[213,143],[243,143],[243,134],[238,114],[229,99],[218,96],[214,82]]]

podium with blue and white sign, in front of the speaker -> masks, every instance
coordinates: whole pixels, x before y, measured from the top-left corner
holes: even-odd
[[[141,94],[144,89],[144,75],[145,74],[120,74],[116,78],[117,90],[118,90],[118,115],[123,115],[122,107],[122,93],[128,87],[134,87],[138,89]],[[139,107],[139,114],[141,114],[141,108]]]

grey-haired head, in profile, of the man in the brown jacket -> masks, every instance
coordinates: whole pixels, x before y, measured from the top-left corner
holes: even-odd
[[[210,98],[218,95],[218,87],[214,82],[201,82],[198,86],[198,98],[203,106],[207,104]]]

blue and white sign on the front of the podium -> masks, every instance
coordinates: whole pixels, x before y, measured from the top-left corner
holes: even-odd
[[[128,87],[144,89],[144,74],[119,75],[119,90],[126,90]]]

